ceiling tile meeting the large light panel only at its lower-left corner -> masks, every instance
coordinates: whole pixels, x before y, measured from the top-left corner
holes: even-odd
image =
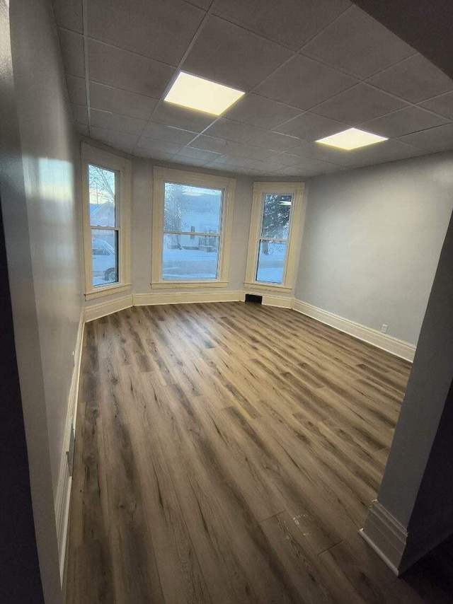
[[[93,109],[112,111],[136,117],[137,120],[148,120],[151,111],[157,105],[157,100],[149,96],[123,91],[120,88],[90,82],[90,105]]]

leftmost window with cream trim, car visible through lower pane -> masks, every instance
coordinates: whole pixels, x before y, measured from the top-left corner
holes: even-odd
[[[130,161],[82,145],[85,297],[130,287]]]

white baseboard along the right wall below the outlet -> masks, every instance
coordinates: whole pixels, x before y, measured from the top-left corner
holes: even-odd
[[[328,313],[327,310],[322,310],[322,308],[318,308],[302,300],[297,300],[297,298],[294,298],[292,308],[297,310],[298,313],[302,313],[302,315],[307,315],[321,323],[335,327],[337,330],[357,337],[357,339],[368,342],[368,344],[372,344],[377,348],[386,350],[386,352],[399,356],[401,359],[413,361],[416,347],[413,344],[404,342],[402,339],[391,337],[391,335],[378,332],[371,327],[365,327],[365,325],[360,325],[360,323],[355,323],[333,313]]]

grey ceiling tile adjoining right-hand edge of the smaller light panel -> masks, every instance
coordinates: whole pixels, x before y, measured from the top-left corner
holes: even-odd
[[[367,130],[367,132],[380,134],[382,137],[396,139],[403,136],[403,134],[418,132],[442,124],[447,124],[445,118],[411,106],[378,117],[376,120],[371,120],[371,122],[360,124],[360,128]]]

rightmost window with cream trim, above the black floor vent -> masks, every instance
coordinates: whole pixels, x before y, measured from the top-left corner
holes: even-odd
[[[246,286],[292,291],[299,255],[303,182],[255,182]]]

